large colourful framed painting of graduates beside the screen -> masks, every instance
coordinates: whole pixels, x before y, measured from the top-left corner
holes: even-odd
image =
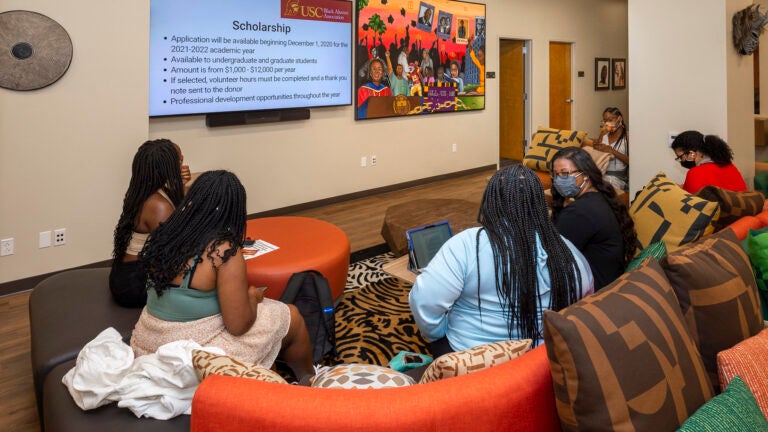
[[[485,109],[485,5],[357,1],[355,119]]]

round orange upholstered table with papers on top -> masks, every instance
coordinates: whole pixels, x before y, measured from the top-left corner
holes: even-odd
[[[279,299],[291,275],[317,270],[328,279],[333,299],[344,292],[349,270],[349,238],[336,225],[319,219],[278,216],[250,219],[246,236],[279,249],[245,261],[248,283],[266,286],[266,297]]]

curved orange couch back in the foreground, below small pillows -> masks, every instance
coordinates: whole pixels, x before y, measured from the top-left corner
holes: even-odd
[[[544,346],[473,374],[379,390],[211,375],[192,401],[192,432],[560,431]]]

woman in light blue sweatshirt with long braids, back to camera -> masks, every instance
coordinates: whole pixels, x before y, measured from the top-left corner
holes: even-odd
[[[497,171],[477,220],[480,227],[440,248],[409,296],[435,356],[507,339],[539,344],[544,309],[560,310],[592,292],[586,259],[555,229],[530,169]]]

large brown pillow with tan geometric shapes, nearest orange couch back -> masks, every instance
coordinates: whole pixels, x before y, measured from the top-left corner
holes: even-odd
[[[655,260],[544,311],[544,341],[564,431],[671,431],[713,396]]]

